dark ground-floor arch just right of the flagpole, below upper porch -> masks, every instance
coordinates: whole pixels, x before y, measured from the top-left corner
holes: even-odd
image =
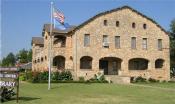
[[[58,70],[65,69],[65,57],[64,56],[55,56],[53,58],[53,66]]]

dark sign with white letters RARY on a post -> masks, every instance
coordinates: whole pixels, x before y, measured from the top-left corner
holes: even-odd
[[[19,72],[17,68],[0,68],[0,87],[16,87],[16,99],[19,99]]]

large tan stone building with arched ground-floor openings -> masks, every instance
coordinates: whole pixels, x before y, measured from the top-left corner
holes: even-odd
[[[50,26],[45,24],[42,37],[32,39],[33,71],[48,70],[51,52],[52,71],[70,70],[75,79],[99,73],[113,81],[170,78],[168,33],[131,7],[102,12],[66,30],[53,29],[51,36]]]

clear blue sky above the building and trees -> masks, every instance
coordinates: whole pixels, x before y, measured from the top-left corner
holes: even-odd
[[[152,18],[165,30],[175,19],[175,0],[52,0],[64,13],[65,22],[80,25],[90,17],[128,5]],[[41,37],[43,24],[50,23],[51,0],[1,0],[0,59],[9,52],[31,49],[32,37]]]

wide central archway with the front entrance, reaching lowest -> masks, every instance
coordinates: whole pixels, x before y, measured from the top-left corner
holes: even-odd
[[[121,62],[122,60],[117,57],[104,57],[99,60],[99,69],[104,71],[104,75],[118,75]]]

